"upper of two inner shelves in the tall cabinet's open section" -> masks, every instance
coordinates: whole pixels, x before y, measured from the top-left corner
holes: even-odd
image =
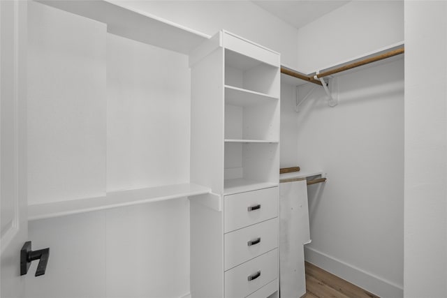
[[[240,105],[247,107],[249,105],[256,105],[262,103],[265,100],[278,100],[277,96],[271,96],[263,94],[261,92],[251,91],[225,85],[225,103],[226,105]]]

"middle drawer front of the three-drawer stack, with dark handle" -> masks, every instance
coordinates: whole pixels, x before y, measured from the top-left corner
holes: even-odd
[[[225,270],[278,247],[278,218],[263,221],[224,236]]]

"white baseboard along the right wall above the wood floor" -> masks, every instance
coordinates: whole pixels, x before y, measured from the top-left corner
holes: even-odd
[[[314,248],[305,247],[305,260],[309,263],[321,267],[340,278],[357,285],[373,294],[383,298],[402,298],[404,289],[390,281],[386,281],[379,276],[374,276],[362,269],[346,264],[341,260],[332,258],[330,255],[316,251]]]

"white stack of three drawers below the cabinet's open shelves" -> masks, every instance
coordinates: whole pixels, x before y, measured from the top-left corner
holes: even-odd
[[[278,278],[278,196],[275,186],[224,197],[224,297],[246,297]]]

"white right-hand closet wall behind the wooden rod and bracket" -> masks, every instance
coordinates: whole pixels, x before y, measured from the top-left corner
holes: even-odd
[[[302,27],[298,69],[312,73],[404,40],[403,9],[403,1],[351,1]],[[309,187],[306,259],[381,297],[403,295],[403,66],[337,77],[334,108],[317,88],[295,129],[298,165],[328,173],[326,184]]]

